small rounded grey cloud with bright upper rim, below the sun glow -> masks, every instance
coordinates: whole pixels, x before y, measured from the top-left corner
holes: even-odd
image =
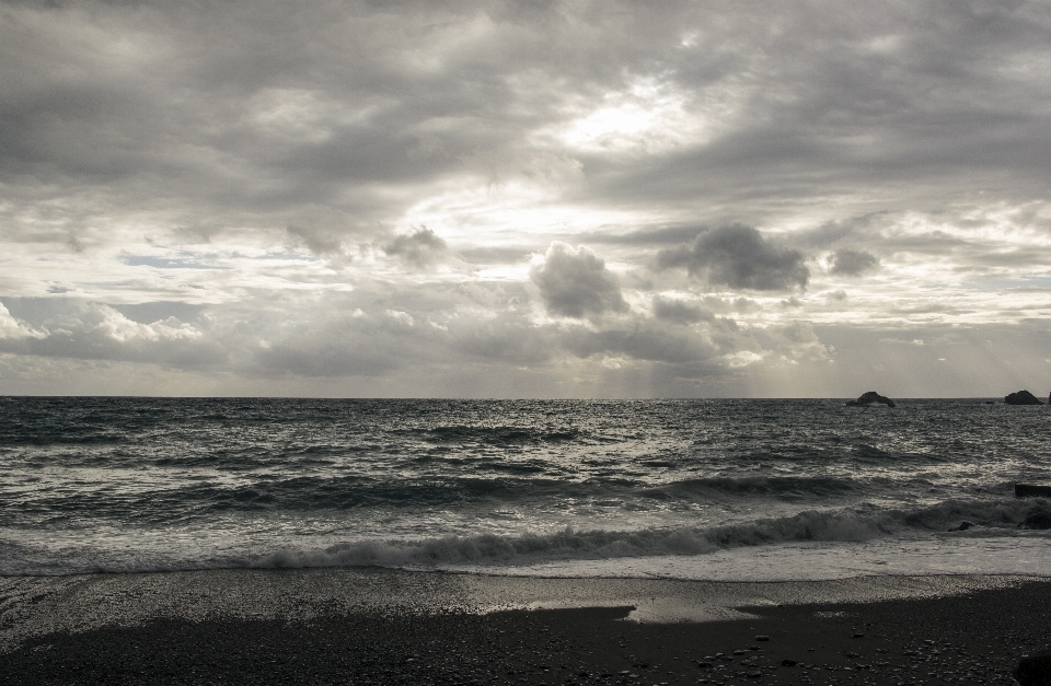
[[[616,277],[605,268],[604,260],[582,245],[574,248],[552,243],[543,264],[533,267],[529,276],[552,314],[584,318],[627,311]]]

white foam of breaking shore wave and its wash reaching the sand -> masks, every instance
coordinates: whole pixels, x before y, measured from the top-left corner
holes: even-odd
[[[865,574],[1024,573],[1051,569],[1051,532],[1016,528],[1042,499],[949,500],[915,510],[863,504],[716,526],[589,530],[340,540],[268,534],[0,535],[0,574],[228,568],[392,567],[520,575],[709,580],[838,579]],[[973,527],[948,532],[961,521]],[[1030,562],[1037,560],[1037,562]]]

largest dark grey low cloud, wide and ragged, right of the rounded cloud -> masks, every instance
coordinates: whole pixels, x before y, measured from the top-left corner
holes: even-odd
[[[810,270],[802,253],[783,248],[752,226],[731,224],[702,232],[691,245],[662,249],[658,269],[684,268],[711,286],[758,291],[805,289]]]

